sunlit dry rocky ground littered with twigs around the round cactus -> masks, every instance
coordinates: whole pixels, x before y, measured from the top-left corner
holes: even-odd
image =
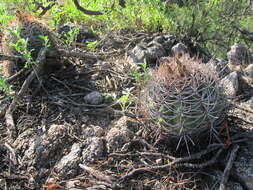
[[[13,114],[16,136],[10,138],[5,111],[11,103],[1,92],[0,189],[248,189],[250,178],[236,164],[252,143],[252,113],[235,108],[220,126],[219,140],[200,137],[188,155],[175,151],[174,139],[146,122],[138,104],[126,112],[112,94],[138,89],[131,75],[136,65],[126,52],[160,34],[119,31],[100,37],[96,59],[62,58],[60,70],[30,84]],[[176,43],[176,42],[175,42]],[[12,83],[18,92],[27,75]],[[103,96],[101,94],[104,94]],[[89,95],[89,96],[87,96]],[[107,95],[107,96],[106,96]],[[244,161],[245,161],[244,160]]]

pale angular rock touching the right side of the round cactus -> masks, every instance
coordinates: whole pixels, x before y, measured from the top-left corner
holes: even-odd
[[[236,71],[230,73],[221,80],[220,84],[228,97],[235,97],[239,91],[238,73]]]

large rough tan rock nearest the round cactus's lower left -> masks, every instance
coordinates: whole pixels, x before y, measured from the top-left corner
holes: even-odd
[[[108,152],[120,151],[124,144],[131,141],[133,132],[127,126],[127,117],[122,117],[115,122],[106,136]]]

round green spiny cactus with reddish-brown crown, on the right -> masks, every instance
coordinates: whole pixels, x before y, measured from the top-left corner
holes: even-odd
[[[177,137],[215,129],[228,105],[215,68],[188,55],[160,62],[142,91],[145,113]]]

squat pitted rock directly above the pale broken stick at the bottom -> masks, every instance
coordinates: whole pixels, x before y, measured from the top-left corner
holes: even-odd
[[[100,160],[106,153],[104,140],[98,137],[86,139],[82,152],[82,158],[85,162],[95,162]]]

